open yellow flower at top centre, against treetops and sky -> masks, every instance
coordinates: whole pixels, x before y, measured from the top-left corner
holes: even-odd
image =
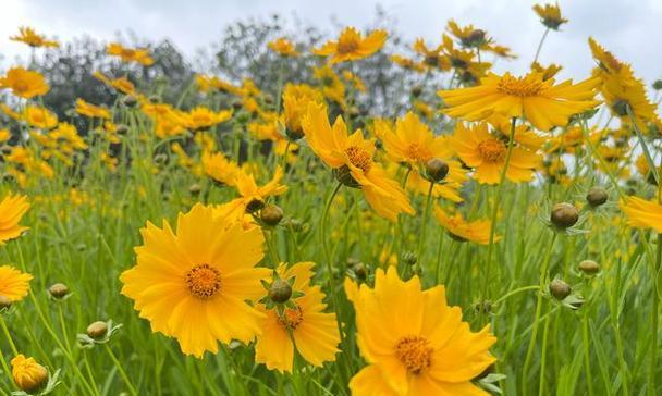
[[[329,40],[322,47],[314,49],[312,53],[331,57],[329,63],[340,63],[368,58],[379,51],[387,42],[389,35],[385,30],[373,30],[365,38],[354,27],[345,27],[338,40]]]

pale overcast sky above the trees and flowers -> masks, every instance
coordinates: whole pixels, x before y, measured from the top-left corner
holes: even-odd
[[[112,40],[118,32],[138,37],[169,37],[189,57],[208,47],[228,23],[279,12],[334,34],[332,17],[343,25],[364,26],[373,21],[376,4],[397,17],[406,39],[425,37],[437,44],[445,21],[473,23],[497,42],[511,47],[519,59],[500,62],[498,71],[524,71],[543,32],[531,11],[531,0],[1,0],[0,53],[2,66],[28,49],[9,40],[19,26],[33,26],[49,37],[66,40],[89,35]],[[587,45],[592,35],[620,59],[634,65],[651,83],[662,77],[662,0],[561,0],[571,22],[551,32],[542,50],[543,63],[566,66],[563,76],[584,78],[593,62]]]

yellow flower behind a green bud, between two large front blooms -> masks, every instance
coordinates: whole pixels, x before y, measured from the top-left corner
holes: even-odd
[[[293,307],[283,307],[282,313],[275,308],[266,309],[262,333],[255,344],[255,360],[270,370],[292,372],[294,349],[310,364],[321,367],[326,361],[335,360],[340,350],[340,333],[335,313],[327,313],[324,294],[317,285],[311,285],[312,262],[299,262],[287,267],[281,263],[278,275],[287,281],[294,277]]]

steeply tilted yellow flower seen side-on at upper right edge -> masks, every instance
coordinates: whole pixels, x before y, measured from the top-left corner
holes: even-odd
[[[630,121],[629,110],[639,131],[646,131],[646,122],[657,120],[658,115],[657,104],[648,99],[643,82],[635,77],[629,64],[617,60],[592,37],[588,40],[593,59],[599,63],[593,75],[602,83],[600,94],[610,110],[626,123]]]

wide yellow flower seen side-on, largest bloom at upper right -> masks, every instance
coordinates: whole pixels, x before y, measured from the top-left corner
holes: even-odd
[[[592,109],[594,88],[600,79],[588,78],[573,84],[572,79],[554,85],[554,78],[542,79],[540,73],[514,77],[510,73],[490,74],[480,85],[469,88],[440,90],[448,106],[443,112],[452,117],[479,121],[498,113],[507,117],[525,117],[535,127],[549,131],[567,125],[573,114]]]

